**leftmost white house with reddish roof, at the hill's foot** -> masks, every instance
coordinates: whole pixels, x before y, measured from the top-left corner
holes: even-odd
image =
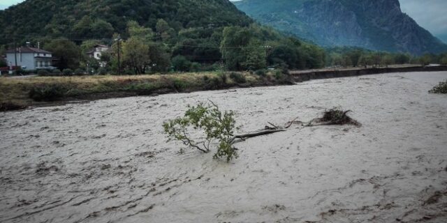
[[[52,60],[51,52],[34,47],[19,47],[6,51],[8,66],[17,65],[23,70],[54,69]]]

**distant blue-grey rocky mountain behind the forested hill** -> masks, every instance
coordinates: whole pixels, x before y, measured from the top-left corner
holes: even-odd
[[[237,8],[262,24],[319,45],[388,52],[447,52],[447,45],[402,13],[398,0],[242,0]]]

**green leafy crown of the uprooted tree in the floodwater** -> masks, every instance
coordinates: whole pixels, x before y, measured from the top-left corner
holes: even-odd
[[[203,153],[209,153],[212,142],[218,141],[219,146],[214,158],[226,157],[229,162],[237,157],[236,148],[233,147],[235,124],[234,112],[222,113],[214,103],[212,105],[200,103],[196,107],[189,107],[183,118],[163,123],[163,128],[168,134],[168,141],[181,141],[184,145]],[[191,135],[197,135],[193,130],[203,131],[204,135],[193,139]]]

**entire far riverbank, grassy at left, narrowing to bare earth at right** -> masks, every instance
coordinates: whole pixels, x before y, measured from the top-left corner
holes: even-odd
[[[249,72],[207,72],[170,75],[80,76],[0,78],[0,112],[27,107],[64,105],[66,102],[138,95],[190,93],[219,89],[277,86],[311,79],[353,77],[389,72],[434,72],[447,66],[394,66],[390,68],[349,68],[300,70],[283,75],[279,70]]]

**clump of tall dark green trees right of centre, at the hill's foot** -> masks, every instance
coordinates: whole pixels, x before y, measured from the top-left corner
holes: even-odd
[[[305,69],[325,65],[321,47],[258,25],[224,29],[221,53],[229,70],[259,70],[266,66]]]

